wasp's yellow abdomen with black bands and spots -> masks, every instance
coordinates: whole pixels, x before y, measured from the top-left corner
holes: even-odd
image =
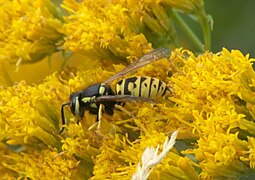
[[[150,99],[163,96],[167,90],[170,91],[166,83],[153,77],[136,76],[123,79],[116,84],[117,95],[132,95]]]

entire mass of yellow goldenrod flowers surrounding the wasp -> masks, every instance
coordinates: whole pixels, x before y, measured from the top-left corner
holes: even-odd
[[[171,9],[201,15],[203,1],[65,0],[65,11],[48,0],[0,4],[2,79],[9,78],[6,62],[35,62],[60,50],[85,55],[83,65],[98,62],[86,70],[67,65],[33,84],[1,81],[2,179],[140,179],[142,172],[141,179],[235,179],[254,173],[254,59],[238,50],[195,55],[172,49],[169,58],[132,74],[159,78],[171,93],[156,104],[127,102],[113,116],[103,113],[100,129],[89,130],[95,115],[85,112],[77,122],[66,108],[65,131],[58,133],[61,104],[72,92],[121,71],[125,65],[115,59],[177,46]]]

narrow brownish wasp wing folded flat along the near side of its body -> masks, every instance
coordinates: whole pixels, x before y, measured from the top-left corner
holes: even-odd
[[[137,101],[143,101],[143,102],[149,102],[152,104],[155,104],[156,101],[153,101],[148,98],[143,97],[137,97],[137,96],[131,96],[131,95],[113,95],[113,96],[99,96],[94,99],[94,102],[102,102],[102,101],[118,101],[118,102],[137,102]]]

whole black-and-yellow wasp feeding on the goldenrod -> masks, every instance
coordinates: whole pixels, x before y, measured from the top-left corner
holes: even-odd
[[[166,91],[171,92],[170,87],[163,81],[145,76],[135,76],[126,79],[122,79],[116,83],[116,93],[112,90],[109,83],[123,77],[129,72],[134,72],[137,69],[152,63],[154,61],[168,58],[170,56],[170,50],[168,48],[155,49],[137,61],[131,63],[122,71],[111,76],[103,83],[92,85],[82,91],[71,93],[70,102],[66,102],[61,106],[61,119],[62,129],[59,131],[61,134],[64,130],[65,115],[64,107],[70,106],[71,112],[78,119],[84,117],[85,111],[97,116],[97,121],[100,121],[102,113],[102,106],[104,106],[104,112],[109,115],[113,115],[114,109],[120,102],[127,101],[149,101],[154,100],[157,97],[164,96]]]

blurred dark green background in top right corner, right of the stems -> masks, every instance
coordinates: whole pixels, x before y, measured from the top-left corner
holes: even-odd
[[[238,49],[255,57],[255,1],[207,0],[205,9],[213,17],[212,51]]]

